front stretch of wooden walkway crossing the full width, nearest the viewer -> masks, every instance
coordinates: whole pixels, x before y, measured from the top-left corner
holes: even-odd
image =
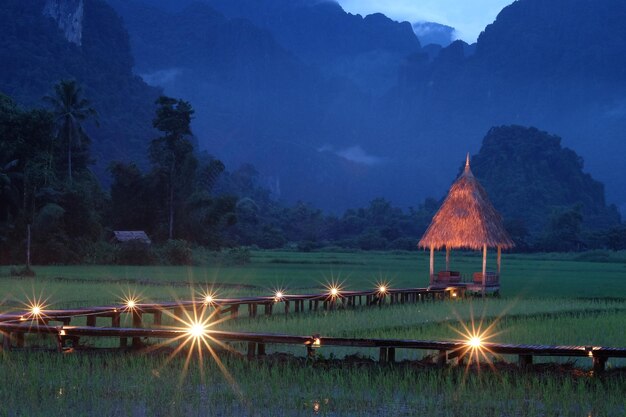
[[[0,323],[0,332],[3,335],[3,348],[11,349],[12,340],[17,341],[18,347],[24,346],[24,334],[48,334],[56,337],[57,348],[62,351],[66,342],[78,343],[81,337],[116,337],[133,339],[181,339],[194,337],[189,329],[178,328],[119,328],[119,327],[91,327],[91,326],[49,326],[40,324]],[[468,341],[432,341],[406,339],[364,339],[324,337],[320,335],[294,336],[271,333],[229,332],[206,329],[196,337],[206,337],[207,340],[220,342],[245,342],[248,344],[248,357],[265,354],[265,347],[272,345],[296,345],[306,348],[307,355],[312,355],[314,349],[324,346],[341,346],[353,348],[379,349],[379,360],[382,363],[395,361],[396,349],[427,350],[437,352],[437,363],[444,365],[450,359],[456,358],[462,363],[473,348]],[[549,345],[522,345],[503,343],[482,343],[482,352],[497,355],[517,355],[520,367],[532,365],[535,356],[559,357],[589,357],[592,360],[593,370],[601,373],[605,370],[609,358],[626,358],[626,348],[601,346],[549,346]]]

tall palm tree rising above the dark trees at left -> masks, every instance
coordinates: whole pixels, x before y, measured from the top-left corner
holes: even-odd
[[[82,140],[88,139],[82,122],[93,117],[98,124],[98,113],[89,100],[82,97],[82,88],[74,80],[62,80],[54,86],[54,96],[44,100],[53,107],[58,138],[67,145],[67,178],[72,182],[72,147],[80,148]]]

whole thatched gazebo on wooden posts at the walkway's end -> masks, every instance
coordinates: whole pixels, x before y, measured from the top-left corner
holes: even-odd
[[[485,189],[472,174],[469,154],[463,174],[452,184],[443,205],[419,241],[419,247],[430,249],[430,285],[465,286],[468,290],[497,292],[500,287],[502,249],[515,246],[504,229],[502,217],[489,201]],[[446,249],[446,270],[435,274],[435,250]],[[451,249],[483,251],[482,273],[462,283],[459,272],[450,271]],[[487,248],[497,248],[497,272],[487,272]]]

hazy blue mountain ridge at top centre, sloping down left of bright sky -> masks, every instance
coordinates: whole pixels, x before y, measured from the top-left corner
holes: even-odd
[[[408,22],[380,13],[352,15],[334,1],[206,1],[226,16],[270,31],[286,50],[326,76],[347,78],[377,96],[395,84],[402,60],[420,50]]]

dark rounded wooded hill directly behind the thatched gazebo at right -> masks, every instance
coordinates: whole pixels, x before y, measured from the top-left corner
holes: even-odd
[[[607,206],[604,186],[583,171],[561,138],[521,126],[494,127],[471,159],[472,171],[505,220],[538,234],[555,209],[582,206],[583,224],[605,229],[620,222]]]

